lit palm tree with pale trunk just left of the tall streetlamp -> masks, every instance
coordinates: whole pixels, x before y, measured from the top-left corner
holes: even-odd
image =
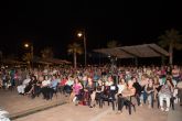
[[[82,54],[83,48],[81,47],[79,44],[73,43],[67,46],[67,52],[73,54],[74,56],[74,68],[76,68],[76,54]]]

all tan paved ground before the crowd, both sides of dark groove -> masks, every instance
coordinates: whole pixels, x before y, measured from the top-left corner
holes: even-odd
[[[66,97],[58,95],[57,98],[46,101],[41,97],[34,100],[29,97],[17,95],[14,91],[0,90],[0,107],[3,107],[10,112],[10,116],[20,114],[21,112],[31,111],[32,109],[45,108],[62,103],[67,100]],[[65,103],[54,108],[14,119],[14,121],[181,121],[182,108],[175,106],[175,110],[162,112],[154,106],[153,109],[148,109],[147,106],[137,107],[137,111],[128,114],[128,110],[122,113],[116,114],[111,107],[107,105],[103,109],[88,108],[86,106],[74,106],[73,103]]]

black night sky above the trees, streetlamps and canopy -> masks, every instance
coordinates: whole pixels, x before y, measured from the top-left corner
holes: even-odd
[[[182,32],[180,3],[98,1],[13,0],[1,4],[0,50],[4,55],[19,54],[22,43],[29,41],[33,42],[36,54],[52,46],[57,57],[65,58],[68,43],[82,43],[75,33],[83,28],[88,51],[105,47],[111,40],[121,45],[157,43],[165,30]]]

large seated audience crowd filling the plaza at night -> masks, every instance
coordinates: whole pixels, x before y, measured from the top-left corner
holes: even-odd
[[[132,105],[132,97],[141,107],[148,103],[152,108],[153,102],[158,102],[162,111],[169,111],[170,106],[179,100],[182,106],[181,85],[182,67],[178,65],[0,70],[0,88],[17,89],[19,95],[30,95],[32,99],[42,95],[46,100],[52,99],[54,94],[62,92],[69,97],[69,102],[89,108],[96,105],[103,107],[107,100],[117,106],[118,113],[126,102]],[[163,105],[163,100],[167,105]]]

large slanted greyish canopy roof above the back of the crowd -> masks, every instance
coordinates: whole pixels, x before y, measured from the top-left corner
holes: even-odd
[[[169,53],[157,44],[142,44],[114,48],[100,48],[94,50],[94,52],[116,56],[118,58],[169,56]]]

